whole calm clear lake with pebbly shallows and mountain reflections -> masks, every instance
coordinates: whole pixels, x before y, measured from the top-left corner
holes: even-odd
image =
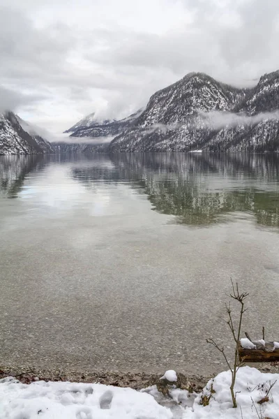
[[[0,156],[1,364],[211,374],[278,336],[279,156]]]

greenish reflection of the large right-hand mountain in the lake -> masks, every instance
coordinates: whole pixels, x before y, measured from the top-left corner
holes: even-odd
[[[104,163],[102,156],[98,156]],[[262,226],[279,226],[279,159],[276,155],[116,154],[114,170],[76,167],[86,184],[103,179],[139,186],[153,210],[176,222],[204,226],[230,212],[249,212]]]

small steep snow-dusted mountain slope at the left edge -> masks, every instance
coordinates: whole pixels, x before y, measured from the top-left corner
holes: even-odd
[[[53,153],[50,142],[42,138],[36,129],[24,122],[13,112],[0,115],[0,154],[45,154]],[[27,126],[30,131],[27,132]]]

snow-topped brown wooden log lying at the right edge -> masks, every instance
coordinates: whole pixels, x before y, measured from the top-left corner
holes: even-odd
[[[252,341],[255,348],[243,348],[238,344],[239,360],[241,362],[279,362],[279,348],[274,347],[274,342]]]

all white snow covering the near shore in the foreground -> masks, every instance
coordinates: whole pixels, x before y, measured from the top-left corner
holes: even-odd
[[[269,397],[259,404],[276,380]],[[230,372],[222,372],[209,381],[200,395],[172,388],[171,397],[163,397],[154,386],[137,392],[102,384],[38,381],[27,385],[11,377],[3,378],[0,418],[279,419],[279,374],[264,374],[250,367],[239,369],[235,385],[239,392],[237,409],[232,408],[230,382]],[[210,397],[208,406],[200,404],[202,397]]]

